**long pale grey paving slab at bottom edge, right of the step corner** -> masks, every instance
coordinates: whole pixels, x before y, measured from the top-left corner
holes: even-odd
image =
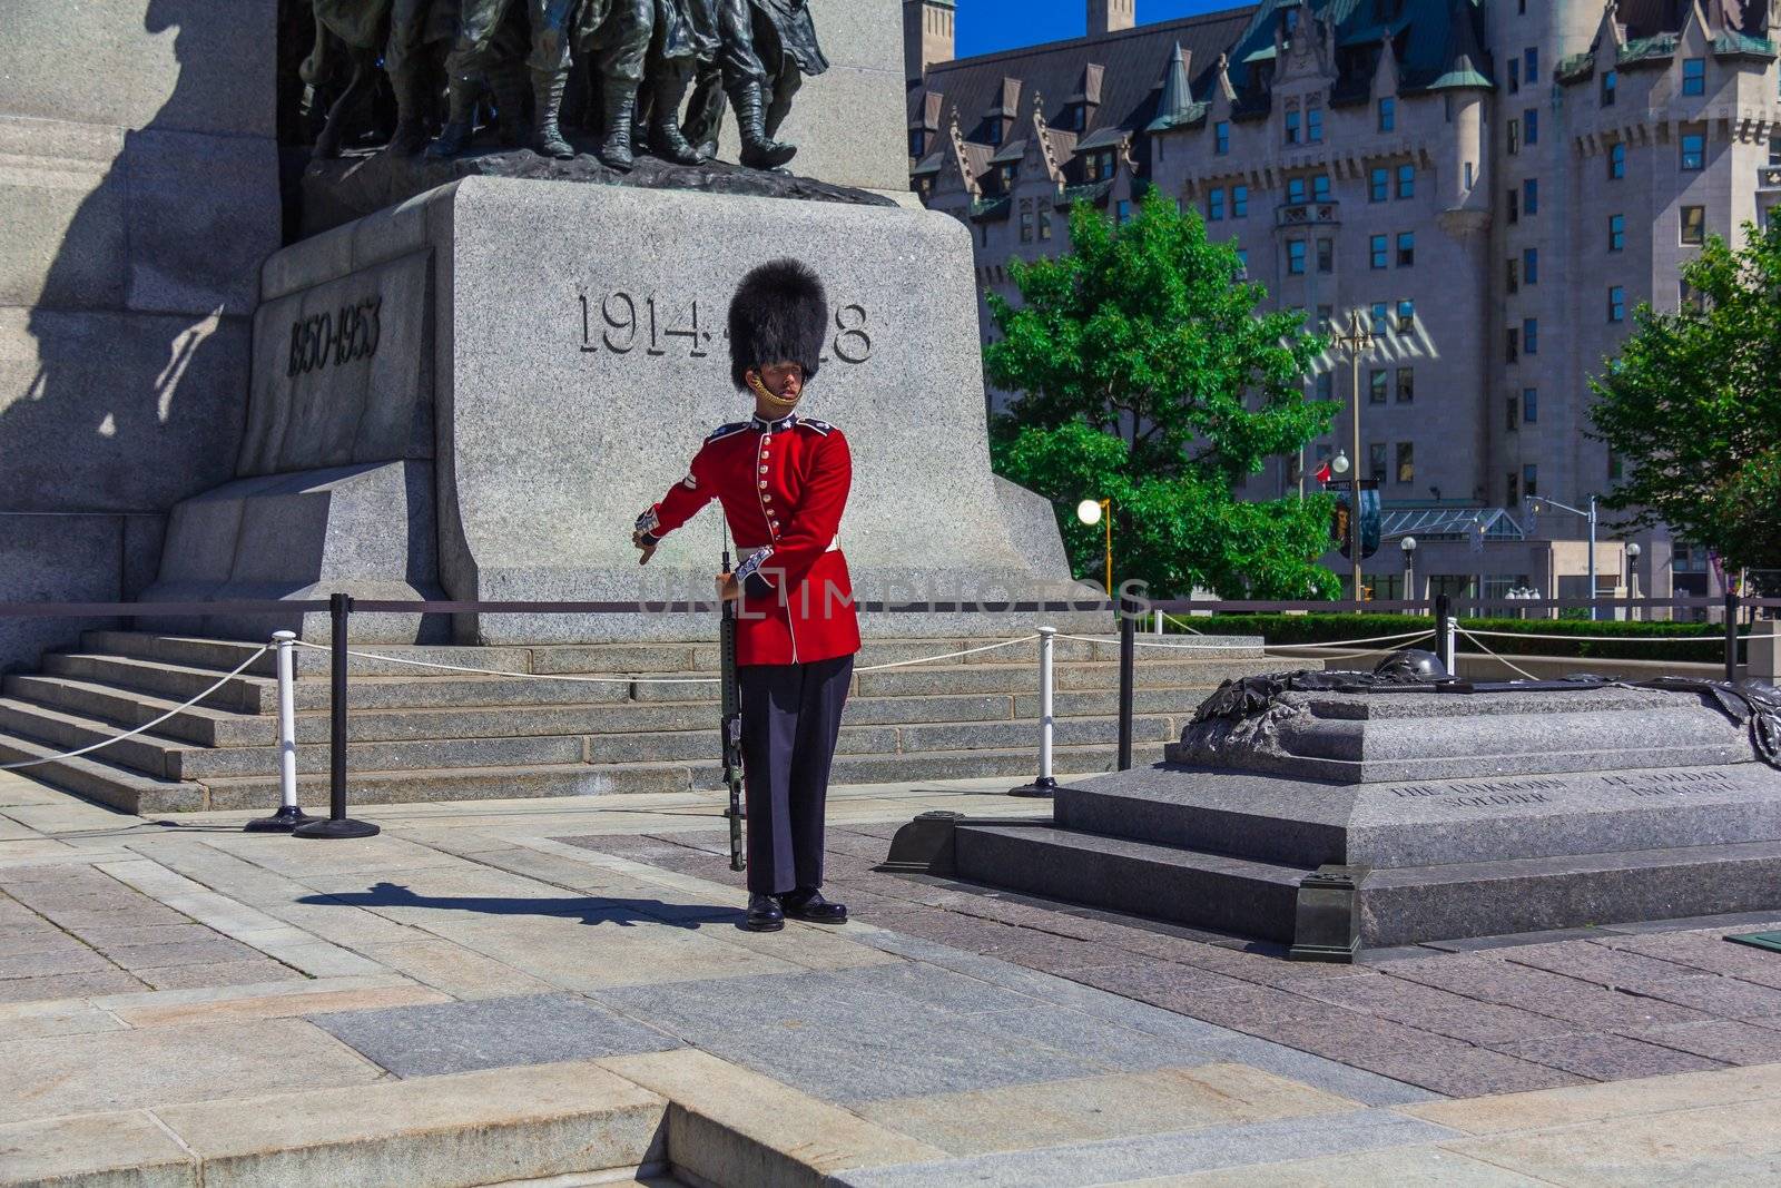
[[[1284,1122],[1222,1126],[850,1172],[837,1176],[834,1184],[835,1188],[930,1188],[931,1184],[1078,1188],[1291,1158],[1330,1158],[1352,1151],[1441,1142],[1452,1136],[1453,1131],[1418,1119],[1405,1119],[1386,1110],[1357,1110]]]

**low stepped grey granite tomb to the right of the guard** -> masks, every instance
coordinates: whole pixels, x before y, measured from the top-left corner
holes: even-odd
[[[939,841],[926,823],[905,850],[1338,960],[1781,908],[1781,771],[1701,695],[1289,693],[1270,714],[1060,789],[1051,821],[955,821]]]

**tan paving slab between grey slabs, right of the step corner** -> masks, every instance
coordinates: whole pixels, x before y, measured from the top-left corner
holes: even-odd
[[[1355,1104],[1259,1069],[1220,1063],[899,1097],[857,1110],[949,1154],[981,1154],[1346,1113]]]

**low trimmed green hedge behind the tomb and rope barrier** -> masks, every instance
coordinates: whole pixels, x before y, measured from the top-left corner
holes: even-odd
[[[1263,636],[1270,645],[1332,643],[1338,639],[1366,639],[1395,636],[1405,631],[1434,631],[1430,614],[1208,614],[1184,622],[1208,636]],[[1571,655],[1633,661],[1688,661],[1722,663],[1726,659],[1726,629],[1719,623],[1646,623],[1626,620],[1553,620],[1553,618],[1462,618],[1460,627],[1471,631],[1530,632],[1541,636],[1614,636],[1612,641],[1589,639],[1485,639],[1492,652],[1503,655]],[[1170,631],[1181,631],[1177,623]],[[1749,634],[1749,627],[1740,627]],[[1639,639],[1701,639],[1701,643],[1639,643]],[[1416,647],[1430,647],[1427,641]],[[1459,650],[1475,652],[1464,636]]]

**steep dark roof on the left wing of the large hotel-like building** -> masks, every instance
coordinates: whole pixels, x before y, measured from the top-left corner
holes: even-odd
[[[1158,114],[1163,78],[1175,43],[1190,55],[1191,91],[1204,98],[1211,89],[1218,55],[1248,27],[1254,7],[1225,9],[1154,25],[1138,25],[1102,37],[1074,37],[1001,53],[983,53],[928,68],[924,85],[910,91],[910,116],[926,110],[926,93],[944,96],[947,110],[958,105],[958,126],[967,141],[985,142],[985,119],[1001,105],[1003,80],[1021,80],[1021,105],[1031,96],[1045,96],[1045,121],[1053,132],[1069,128],[1065,119],[1072,100],[1085,89],[1085,68],[1101,66],[1101,105],[1090,116],[1083,141],[1117,126],[1142,132]],[[1022,119],[1026,110],[1021,112]],[[1058,141],[1054,141],[1058,144]],[[1061,155],[1061,146],[1060,146]]]

